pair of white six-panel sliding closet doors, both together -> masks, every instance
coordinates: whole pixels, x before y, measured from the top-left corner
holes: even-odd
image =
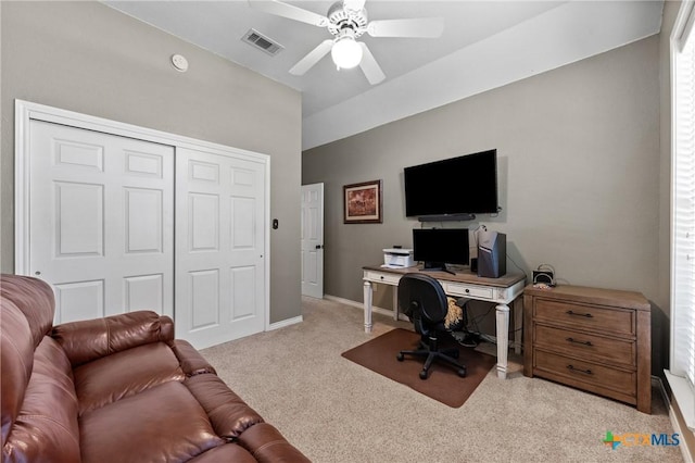
[[[55,323],[153,310],[199,349],[265,329],[264,159],[36,120],[28,143],[24,273]]]

